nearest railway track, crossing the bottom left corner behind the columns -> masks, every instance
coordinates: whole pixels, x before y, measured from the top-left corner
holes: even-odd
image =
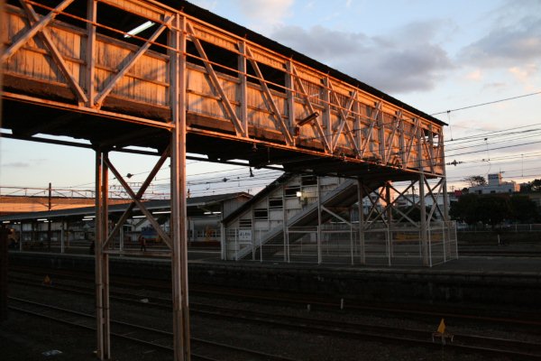
[[[80,329],[95,330],[96,318],[92,314],[56,307],[53,305],[9,297],[10,310],[23,312],[32,316],[51,319],[55,322],[75,326]],[[111,319],[111,336],[124,338],[147,347],[173,351],[170,331],[153,329],[133,323]],[[227,360],[271,360],[271,361],[297,361],[293,358],[271,355],[245,347],[234,347],[224,343],[190,338],[192,358],[202,361]]]

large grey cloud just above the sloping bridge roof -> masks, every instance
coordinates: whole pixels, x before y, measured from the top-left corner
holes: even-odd
[[[454,66],[433,41],[436,22],[411,23],[388,35],[368,36],[324,26],[281,26],[272,39],[385,92],[428,90]]]

